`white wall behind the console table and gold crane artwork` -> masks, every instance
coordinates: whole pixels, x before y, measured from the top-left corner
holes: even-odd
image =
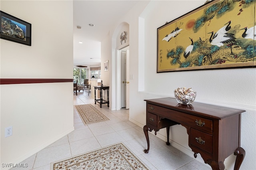
[[[246,150],[246,157],[241,169],[256,169],[256,159],[254,156],[254,151],[256,150],[254,144],[256,142],[255,68],[156,73],[157,28],[162,26],[166,21],[171,21],[182,14],[186,14],[203,3],[202,1],[151,2],[154,8],[151,8],[151,12],[145,17],[145,91],[157,93],[163,97],[174,97],[173,90],[177,87],[192,87],[197,91],[196,101],[198,102],[246,110],[246,113],[242,114],[241,129],[241,146]],[[176,8],[168,10],[168,6],[171,5],[176,6]],[[160,8],[164,13],[157,12]],[[250,89],[250,92],[246,93],[246,89]],[[155,96],[152,95],[152,98],[155,98]],[[142,99],[144,98],[142,97]],[[136,103],[134,104],[134,107],[138,107]],[[137,113],[134,115],[137,115]],[[162,130],[160,134],[166,136],[165,130]],[[185,152],[185,148],[190,150],[187,144],[188,135],[182,126],[177,125],[172,127],[170,138],[174,141],[172,142],[174,145],[178,143],[184,147],[179,148],[180,150]],[[232,155],[226,159],[224,162],[226,169],[234,168],[235,158],[236,157]]]

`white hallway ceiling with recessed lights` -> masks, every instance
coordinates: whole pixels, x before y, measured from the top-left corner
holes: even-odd
[[[74,0],[74,66],[100,66],[100,42],[137,0]],[[94,24],[94,26],[89,26]],[[78,29],[77,26],[81,26]],[[78,43],[82,41],[82,43]]]

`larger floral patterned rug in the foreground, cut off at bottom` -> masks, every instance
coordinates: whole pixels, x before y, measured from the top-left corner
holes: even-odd
[[[51,170],[148,170],[121,142],[51,163]]]

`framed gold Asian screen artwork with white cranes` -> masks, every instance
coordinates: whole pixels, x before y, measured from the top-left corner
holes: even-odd
[[[157,29],[157,73],[255,67],[254,0],[213,0]]]

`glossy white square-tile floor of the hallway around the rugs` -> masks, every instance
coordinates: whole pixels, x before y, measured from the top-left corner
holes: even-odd
[[[74,105],[92,104],[94,99],[88,96],[87,90],[74,94]],[[110,120],[84,125],[74,109],[75,130],[60,140],[40,150],[21,163],[27,163],[28,170],[50,170],[50,163],[90,150],[123,142],[152,170],[207,170],[205,164],[194,160],[180,150],[167,146],[163,140],[149,134],[150,152],[145,154],[147,148],[146,138],[142,128],[128,121],[129,110],[111,111],[107,105],[94,105]],[[13,168],[17,169],[17,168]]]

